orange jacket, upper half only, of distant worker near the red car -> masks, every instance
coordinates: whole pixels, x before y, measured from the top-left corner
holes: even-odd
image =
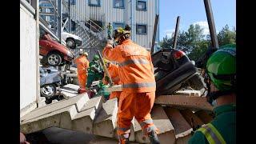
[[[89,67],[89,61],[86,59],[85,56],[76,58],[75,63],[78,68],[78,74],[86,74],[87,73],[87,68]]]

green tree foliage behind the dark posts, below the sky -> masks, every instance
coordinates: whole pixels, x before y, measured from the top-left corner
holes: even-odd
[[[174,34],[173,34],[174,35]],[[226,44],[235,44],[236,31],[230,30],[229,26],[224,26],[218,33],[219,46]],[[172,48],[174,36],[163,38],[160,42],[162,48]],[[190,25],[186,31],[179,31],[176,49],[184,51],[191,60],[196,61],[206,53],[207,48],[211,45],[210,34],[204,35],[203,29],[198,24]]]

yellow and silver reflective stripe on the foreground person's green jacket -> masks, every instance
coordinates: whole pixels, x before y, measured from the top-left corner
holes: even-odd
[[[224,138],[222,138],[222,135],[211,123],[202,126],[200,129],[198,129],[198,131],[201,131],[202,134],[205,135],[210,144],[226,144]]]

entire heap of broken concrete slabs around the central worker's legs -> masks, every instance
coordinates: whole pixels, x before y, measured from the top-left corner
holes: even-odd
[[[55,127],[98,137],[93,138],[90,143],[116,143],[117,99],[106,102],[103,102],[103,97],[90,99],[86,93],[77,94],[78,87],[72,84],[63,86],[62,90],[69,98],[25,114],[21,118],[21,132],[30,134]],[[207,104],[206,98],[199,97],[196,91],[195,94],[182,94],[179,91],[178,95],[157,96],[151,110],[162,144],[186,143],[191,136],[192,127],[210,122],[211,113],[212,107]],[[138,121],[133,119],[132,123],[130,141],[149,143],[149,139],[143,136]]]

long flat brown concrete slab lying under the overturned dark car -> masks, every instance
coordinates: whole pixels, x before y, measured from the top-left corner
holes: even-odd
[[[166,106],[180,106],[200,110],[213,110],[213,106],[206,101],[206,97],[194,97],[184,95],[159,95],[154,103]]]

